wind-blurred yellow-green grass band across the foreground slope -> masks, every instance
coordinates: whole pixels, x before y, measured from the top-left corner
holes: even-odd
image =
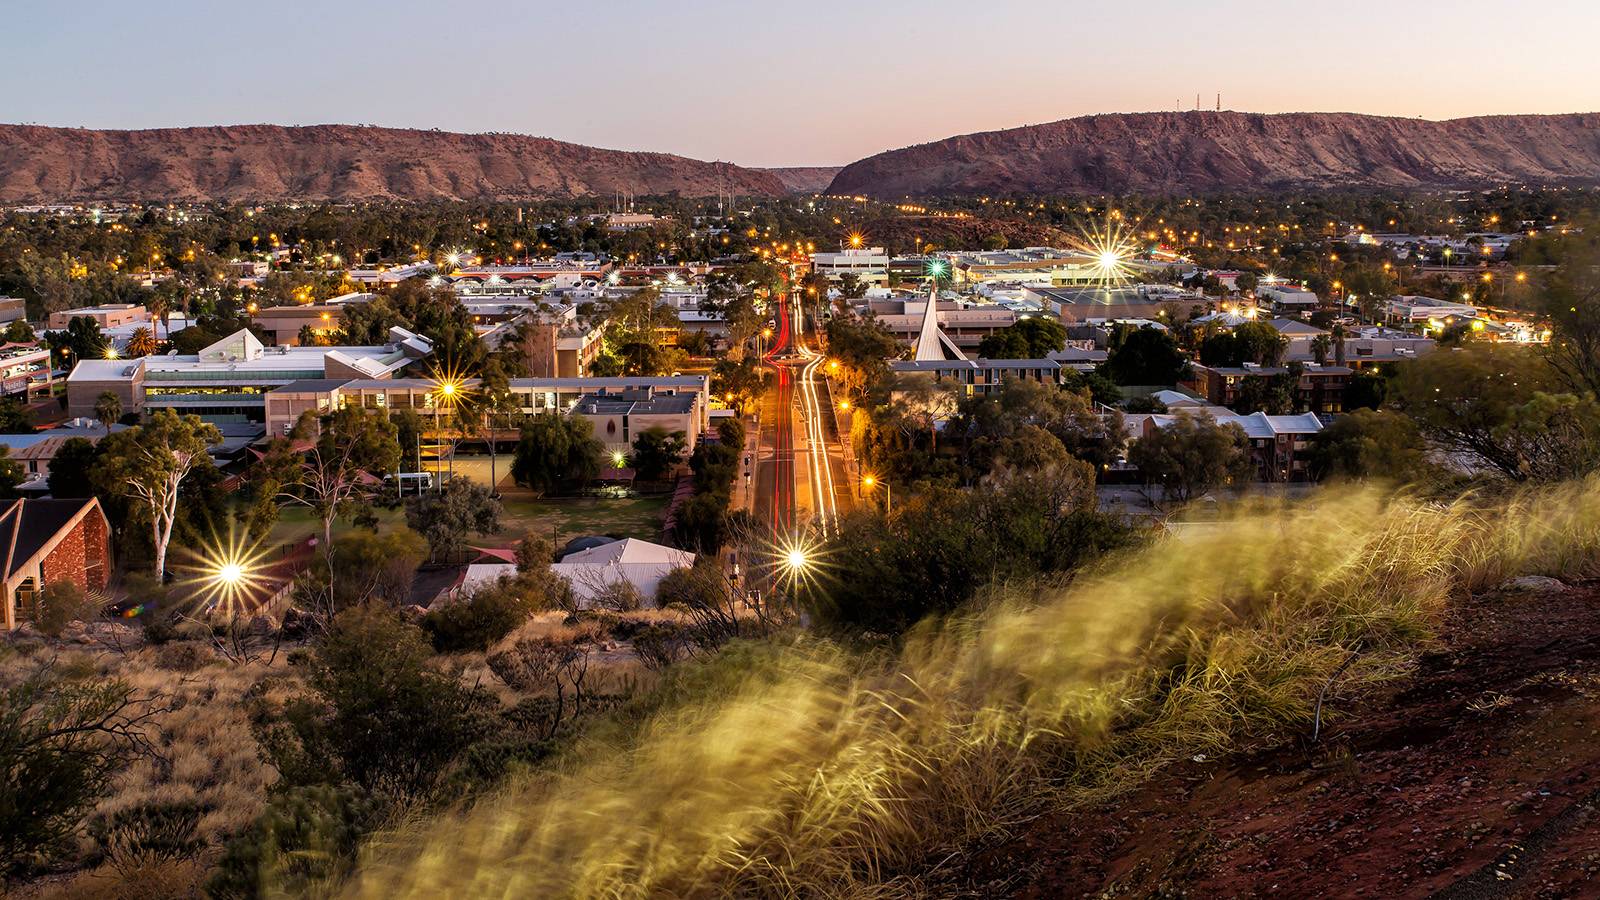
[[[918,895],[966,841],[1155,767],[1309,730],[1405,674],[1450,596],[1586,575],[1600,484],[1494,506],[1376,490],[1251,506],[893,660],[798,639],[667,682],[637,729],[374,841],[362,897]],[[1336,692],[1338,695],[1338,692]]]

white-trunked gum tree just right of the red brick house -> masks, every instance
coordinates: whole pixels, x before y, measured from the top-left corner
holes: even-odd
[[[139,519],[149,524],[157,578],[166,573],[179,488],[195,466],[210,464],[206,448],[221,442],[216,426],[173,410],[160,410],[144,424],[101,440],[96,487],[130,498]]]

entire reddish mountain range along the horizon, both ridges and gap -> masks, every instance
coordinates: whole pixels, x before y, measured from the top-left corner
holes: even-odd
[[[1600,184],[1600,114],[1432,122],[1339,112],[1066,119],[750,168],[525,135],[355,125],[102,131],[0,125],[0,203],[522,200],[627,194],[907,195]]]

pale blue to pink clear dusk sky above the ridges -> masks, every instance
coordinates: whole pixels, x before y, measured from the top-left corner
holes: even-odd
[[[1555,0],[0,0],[0,122],[363,122],[832,165],[1091,112],[1600,109]]]

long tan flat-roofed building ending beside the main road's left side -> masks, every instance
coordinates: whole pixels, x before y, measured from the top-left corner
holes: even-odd
[[[477,384],[475,378],[469,378],[461,383],[461,391],[470,396]],[[629,391],[650,391],[656,397],[690,396],[694,416],[683,431],[698,436],[710,424],[710,380],[704,375],[510,380],[510,396],[523,415],[565,415],[586,396]],[[432,378],[307,378],[267,394],[267,434],[288,434],[301,413],[322,415],[350,405],[390,413],[416,410],[424,418],[443,408],[438,381]]]

